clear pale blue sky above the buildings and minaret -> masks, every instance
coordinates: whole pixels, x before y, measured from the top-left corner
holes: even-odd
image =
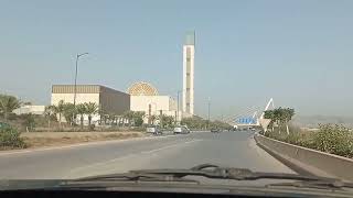
[[[51,85],[182,89],[182,44],[196,32],[195,113],[249,107],[352,116],[350,0],[1,0],[0,92],[49,105]]]

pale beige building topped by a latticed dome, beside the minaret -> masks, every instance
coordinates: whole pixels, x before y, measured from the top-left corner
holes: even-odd
[[[147,116],[149,113],[159,116],[160,111],[165,116],[175,117],[176,114],[176,101],[170,96],[159,96],[151,84],[135,82],[129,87],[128,92],[131,111],[145,111]]]

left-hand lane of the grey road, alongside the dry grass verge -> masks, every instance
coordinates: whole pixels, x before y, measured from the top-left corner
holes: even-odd
[[[63,178],[72,169],[188,142],[184,135],[109,141],[0,155],[0,178]]]

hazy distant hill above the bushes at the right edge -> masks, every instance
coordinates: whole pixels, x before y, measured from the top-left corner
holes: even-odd
[[[319,123],[336,123],[353,128],[353,118],[333,116],[295,116],[292,123],[303,128],[318,128]]]

